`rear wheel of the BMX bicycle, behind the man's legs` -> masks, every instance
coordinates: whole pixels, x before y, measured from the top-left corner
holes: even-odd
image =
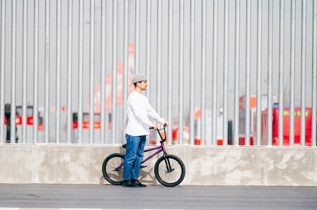
[[[107,158],[103,161],[102,174],[110,184],[122,185],[124,159],[125,155],[113,153],[107,156]]]

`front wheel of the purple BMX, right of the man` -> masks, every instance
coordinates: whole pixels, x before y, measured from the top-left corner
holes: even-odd
[[[167,154],[156,161],[154,174],[161,184],[167,187],[179,185],[185,177],[185,165],[175,155]]]

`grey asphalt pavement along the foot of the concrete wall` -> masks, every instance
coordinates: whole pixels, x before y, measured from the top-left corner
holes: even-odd
[[[98,209],[317,209],[317,187],[110,184],[0,184],[0,210]]]

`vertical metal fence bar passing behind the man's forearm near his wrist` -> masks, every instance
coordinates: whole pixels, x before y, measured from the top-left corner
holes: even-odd
[[[161,116],[162,98],[162,0],[157,0],[157,53],[156,53],[156,112]],[[156,136],[156,144],[160,143],[160,136]]]

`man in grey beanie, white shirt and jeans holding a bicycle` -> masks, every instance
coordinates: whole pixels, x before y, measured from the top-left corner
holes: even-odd
[[[138,181],[146,135],[150,135],[149,127],[157,129],[148,117],[158,123],[166,124],[150,106],[142,90],[146,90],[147,78],[143,74],[133,76],[134,91],[130,93],[127,101],[128,125],[126,128],[127,147],[124,162],[123,187],[146,187]]]

